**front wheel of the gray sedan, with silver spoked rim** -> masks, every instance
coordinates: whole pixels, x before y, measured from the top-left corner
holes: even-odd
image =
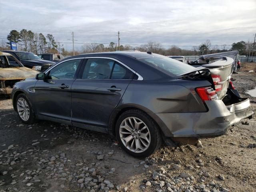
[[[32,104],[25,94],[22,93],[17,96],[15,106],[18,117],[23,123],[32,124],[35,122],[35,113],[32,108]],[[24,106],[23,111],[24,108],[26,108],[26,112],[29,112],[28,115],[24,115],[24,113],[22,114],[22,106]]]

